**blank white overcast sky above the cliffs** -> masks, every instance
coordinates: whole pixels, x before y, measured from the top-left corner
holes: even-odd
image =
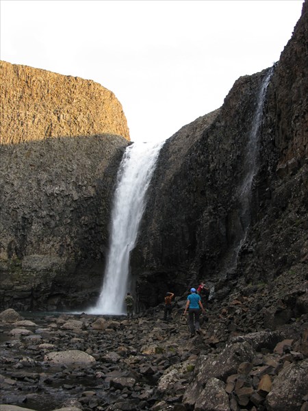
[[[132,141],[219,108],[279,60],[302,0],[1,0],[1,60],[112,90]]]

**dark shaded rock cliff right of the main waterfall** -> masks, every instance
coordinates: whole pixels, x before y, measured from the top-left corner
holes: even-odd
[[[131,258],[141,306],[201,280],[215,284],[219,297],[234,286],[231,279],[257,284],[307,272],[307,8],[306,1],[272,68],[244,214],[249,139],[270,69],[240,77],[220,110],[183,127],[162,148]]]

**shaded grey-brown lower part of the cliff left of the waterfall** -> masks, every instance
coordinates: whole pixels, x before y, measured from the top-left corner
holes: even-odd
[[[3,307],[55,310],[94,303],[127,145],[110,135],[0,145]]]

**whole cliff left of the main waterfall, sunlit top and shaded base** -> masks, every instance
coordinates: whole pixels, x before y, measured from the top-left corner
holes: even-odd
[[[1,306],[92,303],[129,144],[122,107],[77,77],[5,62],[0,73]]]

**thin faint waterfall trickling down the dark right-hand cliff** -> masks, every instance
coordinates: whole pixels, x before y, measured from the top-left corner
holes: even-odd
[[[229,264],[229,271],[235,269],[238,260],[238,254],[244,244],[248,232],[248,227],[251,224],[251,198],[253,179],[259,169],[259,129],[262,122],[264,101],[266,98],[266,90],[272,77],[274,68],[268,69],[268,72],[262,80],[259,94],[257,96],[257,108],[253,118],[251,132],[249,134],[246,157],[244,160],[244,179],[239,189],[239,203],[240,203],[240,224],[242,233],[235,243],[233,256]]]

